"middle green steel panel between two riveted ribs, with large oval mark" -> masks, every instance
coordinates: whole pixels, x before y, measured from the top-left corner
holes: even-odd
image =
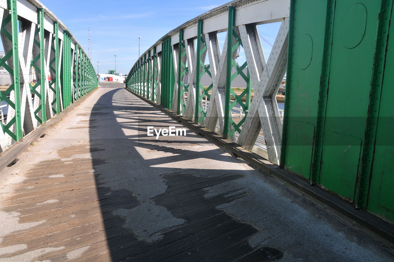
[[[362,1],[362,4],[359,2],[359,0],[336,2],[335,34],[332,38],[324,132],[344,133],[361,140],[364,138],[369,104],[379,5],[375,1]],[[367,10],[368,16],[366,15]],[[350,86],[353,88],[349,88]],[[325,139],[324,143],[331,146],[338,141]],[[348,142],[344,139],[343,143],[342,141],[338,143],[338,150],[329,151],[328,155],[323,152],[320,184],[325,186],[322,180],[327,181],[336,177],[332,175],[336,170],[348,170],[350,165],[356,165],[357,168],[351,167],[352,172],[348,173],[348,177],[353,178],[352,180],[330,182],[336,184],[335,188],[337,190],[333,190],[335,193],[353,199],[357,174],[359,173],[359,162],[339,162],[335,167],[336,170],[331,170],[331,168],[327,170],[327,167],[325,167],[325,162],[328,159],[340,159],[343,156],[343,146],[351,147],[347,153],[354,152],[356,154],[354,156],[348,155],[349,158],[360,159],[360,150],[352,150],[355,146],[360,145],[358,141],[357,144],[352,144],[350,139]],[[323,178],[324,176],[328,176],[328,178]]]

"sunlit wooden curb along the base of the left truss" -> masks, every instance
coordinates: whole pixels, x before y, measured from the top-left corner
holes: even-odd
[[[95,88],[95,90],[91,91],[89,94],[78,99],[76,102],[74,102],[69,107],[61,111],[59,114],[50,118],[48,122],[46,122],[46,124],[40,125],[31,133],[26,135],[22,141],[16,142],[15,144],[7,148],[4,152],[0,153],[0,171],[6,168],[15,159],[17,159],[18,155],[20,155],[20,153],[22,153],[26,148],[28,148],[28,146],[30,146],[30,143],[35,141],[37,138],[41,137],[48,128],[58,123],[66,114],[68,114],[72,109],[74,109],[80,103],[85,101],[85,99],[89,97],[91,94],[93,94],[97,89],[98,88]]]

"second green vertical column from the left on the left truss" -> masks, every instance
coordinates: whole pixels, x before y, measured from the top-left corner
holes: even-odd
[[[37,12],[37,19],[39,28],[39,37],[40,37],[40,79],[41,79],[41,120],[42,124],[46,124],[46,94],[45,94],[45,43],[44,43],[44,9],[39,8]],[[17,29],[15,28],[15,32]],[[18,65],[19,67],[19,65]]]

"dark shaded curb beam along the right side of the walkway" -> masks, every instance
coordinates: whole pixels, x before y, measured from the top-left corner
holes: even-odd
[[[166,113],[171,118],[186,125],[199,135],[209,138],[216,144],[227,148],[236,156],[248,161],[249,163],[252,163],[259,169],[266,172],[269,177],[292,189],[296,193],[308,198],[318,206],[335,215],[345,224],[356,228],[357,230],[361,230],[375,240],[383,242],[385,245],[387,245],[391,252],[394,251],[394,226],[391,223],[383,221],[366,210],[356,210],[350,202],[343,200],[337,195],[334,195],[329,191],[325,191],[320,187],[311,186],[309,181],[269,162],[255,153],[251,153],[249,150],[246,150],[235,142],[232,142],[228,139],[223,139],[221,135],[218,135],[209,129],[202,127],[201,125],[194,124],[194,122],[185,118],[184,116],[178,115],[177,113],[163,107],[162,105],[158,105],[157,103],[152,102],[128,89],[126,90],[133,95],[136,95],[141,100],[156,107],[160,111]]]

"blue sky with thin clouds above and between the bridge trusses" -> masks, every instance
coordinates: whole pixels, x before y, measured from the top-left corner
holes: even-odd
[[[126,74],[138,59],[138,37],[141,54],[160,37],[180,24],[227,3],[220,0],[142,1],[142,0],[41,0],[74,34],[85,52],[88,51],[88,28],[92,39],[91,60],[99,73],[108,69]],[[271,43],[279,24],[262,25],[258,30]],[[220,40],[220,39],[219,39]],[[223,39],[224,41],[224,39]],[[270,46],[262,41],[268,55]],[[241,54],[240,62],[244,60]]]

